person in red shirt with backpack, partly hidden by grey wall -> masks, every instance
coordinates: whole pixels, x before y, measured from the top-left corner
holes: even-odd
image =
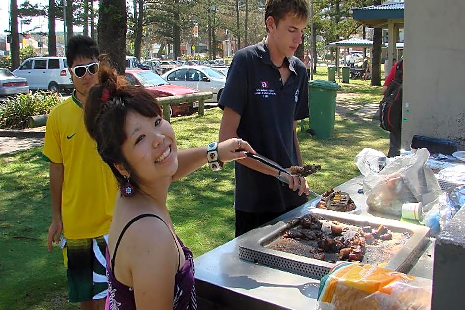
[[[382,129],[389,131],[388,157],[400,155],[403,71],[403,60],[392,66],[389,75],[384,81],[382,89],[384,97],[379,103],[380,126]]]

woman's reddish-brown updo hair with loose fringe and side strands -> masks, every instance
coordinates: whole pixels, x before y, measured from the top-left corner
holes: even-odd
[[[124,132],[128,111],[145,117],[162,116],[156,97],[139,86],[129,85],[124,76],[118,76],[107,58],[100,60],[98,83],[93,85],[84,104],[84,123],[89,135],[97,142],[97,150],[108,164],[120,187],[127,179],[116,169],[123,164],[131,173],[131,184],[139,189],[139,178],[123,156],[121,146],[126,140]]]

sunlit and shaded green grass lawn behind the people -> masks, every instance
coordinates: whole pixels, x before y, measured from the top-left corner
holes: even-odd
[[[323,69],[319,68],[316,78],[325,79]],[[341,89],[356,92],[354,100],[359,101],[379,96],[378,90],[369,81],[351,81]],[[217,140],[220,120],[217,108],[206,110],[204,117],[172,118],[179,148]],[[364,147],[387,153],[388,133],[376,124],[336,116],[334,131],[334,138],[327,140],[298,133],[304,162],[322,166],[307,177],[317,192],[359,175],[354,156]],[[0,310],[79,309],[67,302],[61,252],[56,248],[47,251],[48,164],[40,155],[41,148],[36,147],[0,156]],[[228,163],[222,171],[212,172],[205,165],[170,188],[167,204],[176,232],[195,256],[234,237],[233,166]]]

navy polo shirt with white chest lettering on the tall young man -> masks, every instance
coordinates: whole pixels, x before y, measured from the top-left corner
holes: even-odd
[[[286,60],[285,60],[286,61]],[[308,77],[297,57],[287,58],[291,74],[283,85],[270,60],[265,39],[239,50],[228,70],[218,106],[240,114],[237,134],[261,155],[283,167],[298,165],[293,137],[295,120],[308,117]],[[235,209],[283,212],[305,203],[305,195],[269,176],[235,164]]]

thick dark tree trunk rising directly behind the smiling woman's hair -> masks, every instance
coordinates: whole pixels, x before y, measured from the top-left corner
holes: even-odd
[[[98,10],[98,44],[109,55],[118,74],[126,67],[126,1],[100,0]]]

